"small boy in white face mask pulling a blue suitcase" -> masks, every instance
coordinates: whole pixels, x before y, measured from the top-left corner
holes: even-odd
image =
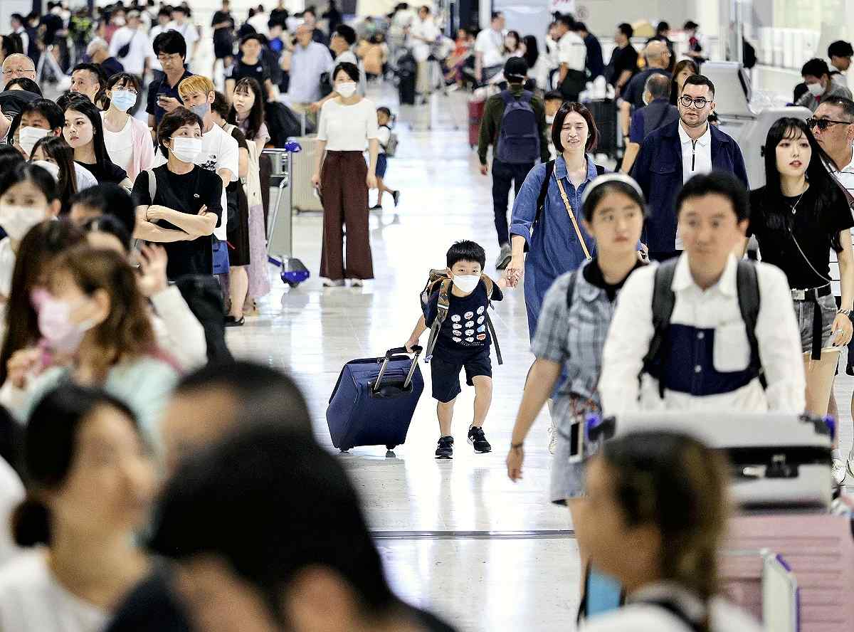
[[[492,403],[492,362],[489,359],[491,336],[487,325],[487,283],[482,278],[486,265],[486,252],[477,243],[462,241],[454,243],[447,251],[447,276],[452,280],[447,293],[449,307],[436,338],[436,347],[430,359],[430,375],[433,379],[433,398],[439,403],[436,414],[439,418],[439,442],[436,459],[453,458],[453,404],[460,393],[459,372],[465,369],[465,383],[475,387],[474,418],[468,431],[468,441],[476,453],[486,453],[492,446],[483,434],[483,422]],[[503,278],[494,282],[492,301],[504,296],[500,288],[506,288]],[[430,294],[424,315],[409,337],[407,348],[418,344],[418,338],[429,329],[439,313],[439,286]]]

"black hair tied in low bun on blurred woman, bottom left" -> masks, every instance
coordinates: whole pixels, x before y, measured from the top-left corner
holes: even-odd
[[[77,455],[80,429],[102,407],[122,413],[138,430],[125,403],[99,389],[63,384],[32,410],[24,434],[26,498],[12,513],[12,536],[20,547],[50,546],[50,509],[40,498],[65,483]]]

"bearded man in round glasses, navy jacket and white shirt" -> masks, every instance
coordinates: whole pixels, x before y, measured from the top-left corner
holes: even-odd
[[[685,80],[677,104],[679,120],[644,138],[632,177],[640,184],[650,215],[642,240],[652,260],[667,260],[681,250],[674,202],[696,173],[728,171],[749,189],[741,149],[734,138],[709,125],[715,109],[715,86],[703,75]]]

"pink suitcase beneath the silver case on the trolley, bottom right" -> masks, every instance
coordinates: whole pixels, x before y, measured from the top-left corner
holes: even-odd
[[[728,551],[778,553],[792,567],[800,594],[801,632],[839,632],[854,625],[854,538],[851,520],[829,513],[774,512],[730,521]],[[762,560],[723,555],[725,593],[762,617]]]

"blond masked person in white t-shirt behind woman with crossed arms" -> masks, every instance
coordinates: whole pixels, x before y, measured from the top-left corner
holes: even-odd
[[[194,74],[187,77],[178,84],[178,92],[184,107],[192,110],[202,118],[202,151],[194,161],[199,167],[213,171],[222,178],[222,219],[219,225],[213,229],[213,237],[225,242],[226,224],[228,214],[225,209],[228,203],[225,200],[225,187],[237,180],[237,161],[239,149],[237,141],[230,134],[223,132],[222,128],[214,124],[211,116],[211,103],[214,94],[213,81],[202,75]],[[166,164],[167,159],[162,152],[157,152],[155,167]]]

